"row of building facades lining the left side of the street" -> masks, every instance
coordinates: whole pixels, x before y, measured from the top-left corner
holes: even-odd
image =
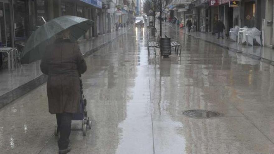
[[[45,22],[65,15],[94,21],[80,38],[90,39],[114,31],[118,20],[125,23],[133,16],[135,3],[136,0],[0,0],[0,42],[2,46],[16,47]],[[116,14],[119,8],[124,18]]]

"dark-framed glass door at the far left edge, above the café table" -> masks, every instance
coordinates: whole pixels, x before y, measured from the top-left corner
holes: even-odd
[[[8,1],[0,1],[0,42],[1,46],[12,46],[11,12]]]

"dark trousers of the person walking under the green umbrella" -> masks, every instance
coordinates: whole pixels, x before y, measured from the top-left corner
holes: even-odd
[[[72,113],[56,114],[57,131],[60,132],[58,147],[64,150],[69,146],[69,135],[71,132]]]

